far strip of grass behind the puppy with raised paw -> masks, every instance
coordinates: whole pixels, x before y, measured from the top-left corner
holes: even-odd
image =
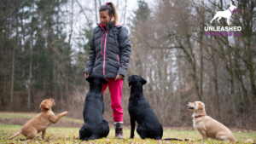
[[[26,112],[0,112],[0,118],[34,118],[36,117],[38,113],[26,113]],[[75,118],[67,118],[63,117],[61,119],[74,121],[74,122],[81,122],[83,123],[83,120],[75,119]]]

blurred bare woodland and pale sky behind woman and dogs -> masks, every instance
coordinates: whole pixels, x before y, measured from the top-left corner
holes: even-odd
[[[54,98],[53,112],[83,119],[89,84],[84,67],[98,10],[106,0],[0,1],[0,111],[40,112]],[[123,85],[124,122],[130,124],[127,78],[148,83],[143,92],[163,126],[192,126],[189,101],[203,101],[207,114],[235,128],[256,128],[255,0],[114,0],[119,24],[129,30],[131,61]],[[236,5],[230,26],[241,36],[206,36],[217,11]],[[105,113],[113,124],[110,94]],[[1,121],[1,118],[0,118]],[[9,121],[10,122],[10,121]]]

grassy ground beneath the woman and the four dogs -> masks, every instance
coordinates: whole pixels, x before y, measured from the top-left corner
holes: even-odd
[[[7,123],[6,119],[9,119],[12,122],[13,119],[23,119],[20,121],[25,121],[24,118],[33,118],[35,116],[34,113],[10,113],[10,112],[0,112],[0,143],[229,143],[224,141],[212,141],[208,139],[208,141],[202,141],[201,135],[195,130],[164,130],[163,138],[178,138],[184,141],[155,141],[151,139],[142,140],[137,132],[135,132],[135,138],[130,139],[130,129],[124,129],[125,139],[119,140],[114,138],[114,130],[111,129],[107,138],[103,138],[95,141],[79,141],[79,127],[78,128],[61,128],[61,127],[49,127],[46,130],[45,140],[42,140],[41,134],[38,134],[36,138],[30,141],[24,141],[25,136],[19,135],[15,137],[13,140],[7,140],[7,138],[11,135],[14,135],[15,132],[20,130],[21,125],[15,124],[3,124]],[[4,120],[5,119],[5,120]],[[19,121],[19,120],[17,120]],[[12,122],[14,123],[14,121]],[[81,120],[73,119],[73,118],[63,118],[63,124],[73,124],[79,125],[81,124]],[[53,125],[55,126],[55,125]],[[57,125],[60,126],[60,125]],[[72,125],[71,125],[72,126]],[[171,128],[172,129],[172,128]],[[245,131],[245,130],[244,130]],[[256,141],[256,132],[234,132],[236,139],[239,143],[243,143],[242,141],[246,141],[247,139],[253,139]],[[236,143],[236,142],[233,142]]]

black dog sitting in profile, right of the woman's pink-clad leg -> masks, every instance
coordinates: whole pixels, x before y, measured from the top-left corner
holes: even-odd
[[[143,95],[143,84],[147,81],[140,76],[132,75],[129,76],[128,82],[129,87],[131,86],[128,107],[131,118],[131,138],[134,137],[135,121],[137,121],[137,133],[142,139],[162,139],[163,126]]]

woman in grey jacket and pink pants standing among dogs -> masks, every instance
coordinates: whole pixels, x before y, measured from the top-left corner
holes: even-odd
[[[124,138],[121,98],[122,85],[130,62],[131,43],[125,26],[118,25],[118,14],[113,3],[102,5],[99,14],[101,23],[97,24],[90,38],[90,57],[84,69],[84,77],[89,77],[92,71],[101,71],[108,78],[108,84],[103,84],[102,95],[108,87],[115,136]]]

